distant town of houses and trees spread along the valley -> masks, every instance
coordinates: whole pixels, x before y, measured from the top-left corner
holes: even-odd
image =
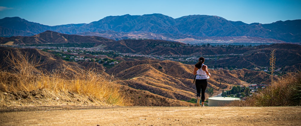
[[[129,38],[129,39],[136,39],[136,38]],[[124,57],[124,58],[150,58],[156,60],[171,60],[171,61],[182,62],[185,64],[195,64],[198,58],[200,57],[200,55],[143,55],[143,54],[133,54],[133,53],[121,53],[113,50],[105,50],[102,48],[95,48],[95,47],[64,47],[64,45],[62,46],[61,43],[57,43],[60,46],[57,46],[55,44],[56,43],[50,44],[54,46],[48,46],[47,43],[43,45],[20,44],[20,45],[1,45],[1,46],[10,46],[16,48],[35,48],[35,49],[40,49],[45,52],[50,52],[52,54],[55,54],[66,61],[95,61],[100,64],[107,64],[107,65],[118,64],[119,61],[114,59],[114,57],[117,56]],[[210,44],[203,44],[203,45],[189,44],[189,43],[187,44],[187,46],[209,46],[209,45]],[[219,45],[219,46],[226,46],[226,45]],[[228,46],[234,46],[234,45],[228,45]],[[252,47],[252,46],[249,45],[243,47]],[[206,60],[214,61],[217,60],[217,57],[219,57],[219,59],[222,59],[223,57],[226,56],[243,56],[243,55],[244,54],[223,54],[223,55],[202,55],[202,56],[206,57],[205,58]],[[238,70],[238,68],[228,68],[228,67],[219,68],[217,66],[216,67],[213,66],[211,68],[209,67],[209,69]],[[268,67],[253,68],[253,70],[269,72]],[[277,68],[275,71],[281,73],[281,68]]]

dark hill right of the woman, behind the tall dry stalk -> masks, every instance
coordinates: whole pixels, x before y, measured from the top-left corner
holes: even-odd
[[[276,49],[276,67],[284,68],[284,71],[290,71],[293,68],[298,68],[301,64],[301,46],[294,44],[272,44],[256,46],[254,49],[246,51],[243,56],[227,57],[216,61],[217,65],[233,67],[233,68],[247,68],[268,67],[271,50]],[[209,61],[210,64],[215,64],[215,61]]]

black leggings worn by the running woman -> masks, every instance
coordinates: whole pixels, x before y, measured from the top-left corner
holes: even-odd
[[[207,88],[207,79],[202,79],[202,80],[199,80],[199,79],[196,79],[195,80],[195,87],[197,88],[197,97],[200,97],[201,96],[201,90],[202,90],[202,97],[201,97],[201,100],[202,102],[205,101],[205,91],[206,91],[206,88]]]

